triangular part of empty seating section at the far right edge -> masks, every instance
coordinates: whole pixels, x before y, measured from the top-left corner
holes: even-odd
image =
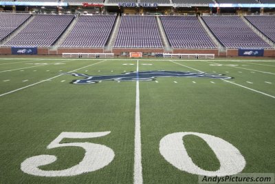
[[[246,16],[258,30],[275,42],[275,16]]]

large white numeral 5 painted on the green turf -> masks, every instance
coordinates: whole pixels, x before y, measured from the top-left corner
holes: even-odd
[[[78,165],[74,165],[66,170],[41,170],[39,169],[39,166],[54,163],[54,161],[56,161],[56,156],[42,154],[25,159],[25,161],[21,163],[21,170],[35,176],[75,176],[85,172],[99,170],[113,161],[115,154],[111,148],[94,143],[60,142],[64,138],[87,139],[106,136],[109,133],[110,132],[62,132],[56,139],[54,139],[54,141],[52,141],[52,143],[50,143],[50,145],[47,146],[47,149],[66,146],[83,147],[83,149],[85,149],[85,156],[83,160],[78,163]]]

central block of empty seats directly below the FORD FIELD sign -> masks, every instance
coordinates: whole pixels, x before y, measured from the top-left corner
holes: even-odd
[[[117,48],[163,48],[153,16],[123,16],[115,40]]]

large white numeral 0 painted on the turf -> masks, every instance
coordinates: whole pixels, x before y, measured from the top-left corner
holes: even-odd
[[[199,136],[206,141],[216,154],[220,162],[220,168],[217,171],[203,170],[192,162],[190,156],[184,147],[183,137],[186,135]],[[159,152],[164,159],[179,170],[192,174],[200,174],[204,176],[225,176],[237,174],[245,167],[245,159],[234,145],[224,141],[223,139],[201,134],[196,132],[177,132],[168,134],[159,142]]]

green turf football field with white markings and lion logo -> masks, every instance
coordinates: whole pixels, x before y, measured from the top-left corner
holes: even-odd
[[[0,59],[0,183],[275,172],[275,59]]]

